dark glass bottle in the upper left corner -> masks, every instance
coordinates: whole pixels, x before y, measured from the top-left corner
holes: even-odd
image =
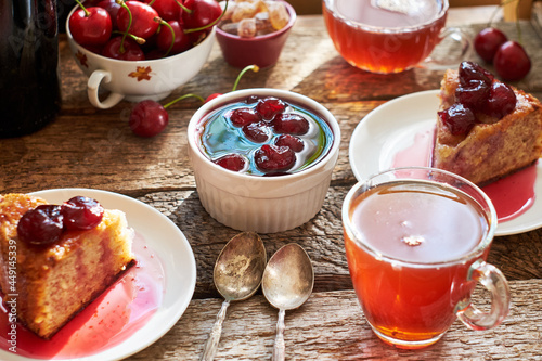
[[[0,0],[0,138],[41,129],[60,107],[56,0]]]

